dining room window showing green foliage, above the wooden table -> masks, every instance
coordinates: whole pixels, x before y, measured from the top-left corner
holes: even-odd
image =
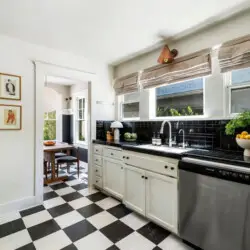
[[[44,113],[44,127],[43,139],[55,140],[56,139],[56,111]]]

